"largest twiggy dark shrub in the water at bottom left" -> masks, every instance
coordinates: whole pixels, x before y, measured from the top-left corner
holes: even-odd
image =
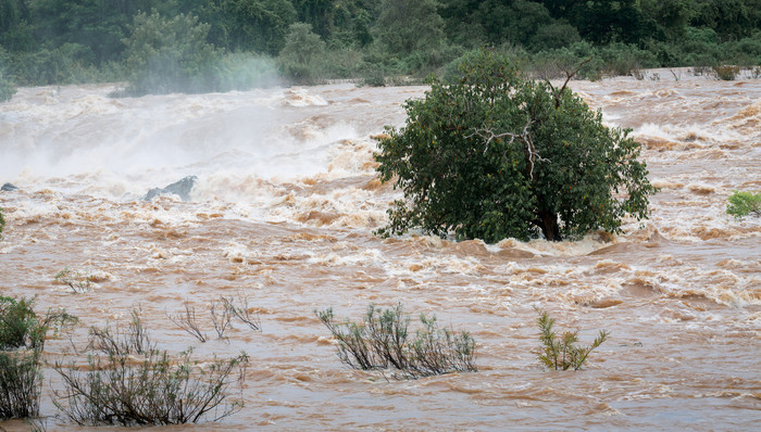
[[[53,404],[78,424],[182,424],[212,421],[241,409],[229,402],[241,386],[248,356],[204,361],[191,351],[171,356],[150,342],[140,314],[133,310],[126,332],[93,329],[88,367],[55,361],[65,390]]]

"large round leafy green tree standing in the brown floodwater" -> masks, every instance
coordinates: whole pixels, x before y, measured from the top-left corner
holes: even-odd
[[[469,55],[454,84],[432,79],[406,103],[407,124],[387,128],[375,160],[404,200],[379,233],[410,228],[497,242],[578,238],[648,216],[656,189],[628,130],[602,125],[571,90],[523,77],[504,56]],[[569,74],[569,79],[572,74]]]

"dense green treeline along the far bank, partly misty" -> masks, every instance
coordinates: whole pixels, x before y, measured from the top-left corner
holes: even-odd
[[[130,82],[127,93],[446,74],[490,46],[586,74],[761,64],[761,0],[0,0],[12,86]]]

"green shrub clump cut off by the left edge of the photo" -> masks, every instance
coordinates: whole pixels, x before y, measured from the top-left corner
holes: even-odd
[[[34,298],[0,296],[0,419],[39,414],[46,334],[76,320],[65,312],[40,318],[33,305]]]

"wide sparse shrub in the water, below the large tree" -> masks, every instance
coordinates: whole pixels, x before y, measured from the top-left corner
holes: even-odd
[[[401,304],[388,309],[371,304],[359,323],[337,322],[332,308],[315,314],[338,341],[338,358],[353,369],[394,368],[401,378],[478,370],[470,333],[439,328],[435,316],[421,314],[421,328],[412,335]]]

